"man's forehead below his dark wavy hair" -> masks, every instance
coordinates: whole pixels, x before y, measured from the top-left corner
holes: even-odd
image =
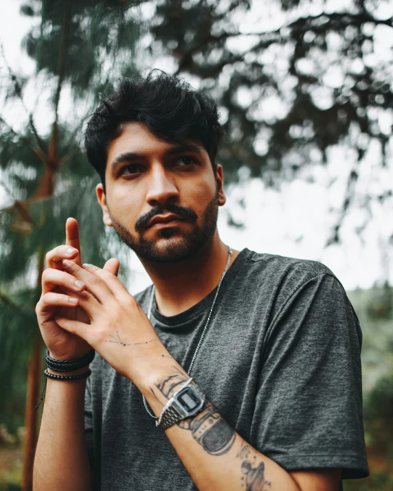
[[[188,139],[187,142],[198,144],[201,148],[201,153],[205,153],[207,156],[205,148],[198,141]],[[142,123],[126,123],[122,133],[109,143],[106,164],[111,163],[117,155],[121,155],[124,152],[135,152],[147,157],[155,153],[166,152],[166,150],[177,145],[179,144],[157,138]]]

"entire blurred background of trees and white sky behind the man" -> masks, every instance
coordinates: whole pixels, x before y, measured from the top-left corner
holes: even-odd
[[[393,490],[393,3],[391,0],[0,2],[0,490],[31,490],[45,346],[34,308],[45,253],[78,219],[84,262],[121,261],[102,224],[82,130],[117,77],[176,73],[218,102],[235,249],[323,262],[363,330],[371,475]]]

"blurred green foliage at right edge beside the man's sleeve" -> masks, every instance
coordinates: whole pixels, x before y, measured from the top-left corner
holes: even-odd
[[[370,477],[344,481],[345,491],[393,489],[393,288],[387,284],[348,292],[357,312],[363,345],[363,422]],[[378,306],[376,308],[376,306]]]

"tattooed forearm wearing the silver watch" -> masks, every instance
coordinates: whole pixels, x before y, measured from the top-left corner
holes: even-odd
[[[179,366],[167,368],[143,390],[156,415],[179,388],[177,378],[188,376]],[[170,426],[166,435],[201,491],[299,491],[291,475],[247,444],[210,402],[201,413]]]

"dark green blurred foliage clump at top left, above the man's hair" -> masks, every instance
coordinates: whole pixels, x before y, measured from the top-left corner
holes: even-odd
[[[122,0],[25,3],[21,8],[23,14],[41,18],[39,28],[33,29],[24,41],[27,54],[36,61],[37,72],[46,71],[70,82],[74,95],[80,98],[86,91],[95,91],[97,84],[102,84],[105,65],[110,63],[113,70],[124,51],[128,57],[133,54],[140,27],[129,10],[138,3]],[[124,73],[124,62],[121,64]],[[110,74],[113,76],[113,71]],[[109,82],[108,78],[105,80]]]

